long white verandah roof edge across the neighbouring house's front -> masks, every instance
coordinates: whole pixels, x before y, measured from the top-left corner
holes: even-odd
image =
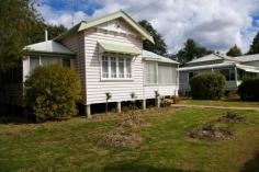
[[[248,72],[259,72],[258,67],[240,65],[237,62],[222,62],[222,64],[214,64],[214,65],[203,65],[203,66],[194,66],[194,67],[183,67],[179,68],[179,71],[198,71],[198,70],[206,70],[206,69],[219,69],[226,67],[237,67],[238,69],[243,69]]]

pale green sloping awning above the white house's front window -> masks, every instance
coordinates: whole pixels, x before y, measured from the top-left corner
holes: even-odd
[[[130,54],[130,55],[139,55],[142,51],[137,47],[111,44],[111,43],[98,43],[100,45],[101,51],[108,53],[121,53],[121,54]]]

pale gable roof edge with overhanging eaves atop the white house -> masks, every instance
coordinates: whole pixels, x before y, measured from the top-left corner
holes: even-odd
[[[89,21],[82,21],[82,22],[78,23],[77,25],[75,25],[74,27],[71,27],[70,30],[68,30],[67,32],[65,32],[63,35],[56,37],[55,41],[60,41],[64,37],[71,35],[74,33],[77,33],[77,32],[80,32],[80,31],[83,31],[83,30],[87,30],[90,27],[94,27],[99,24],[102,24],[102,23],[105,23],[105,22],[109,22],[109,21],[112,21],[112,20],[115,20],[119,18],[126,21],[143,37],[145,37],[146,39],[154,43],[153,36],[144,27],[142,27],[137,22],[135,22],[128,14],[126,14],[122,10],[114,12],[114,13],[106,14],[106,15],[102,15],[99,18],[93,18],[93,19],[90,19]]]

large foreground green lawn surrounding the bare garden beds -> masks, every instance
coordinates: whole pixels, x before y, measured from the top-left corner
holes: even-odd
[[[74,118],[45,124],[0,124],[0,171],[103,172],[258,172],[259,114],[239,111],[252,123],[233,124],[235,138],[191,139],[196,126],[216,121],[223,110],[146,111],[149,125],[137,129],[145,141],[137,149],[103,146],[115,128],[110,118]]]

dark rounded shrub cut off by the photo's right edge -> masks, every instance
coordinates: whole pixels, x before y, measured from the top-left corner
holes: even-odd
[[[238,87],[238,94],[241,100],[259,101],[259,78],[247,79]]]

